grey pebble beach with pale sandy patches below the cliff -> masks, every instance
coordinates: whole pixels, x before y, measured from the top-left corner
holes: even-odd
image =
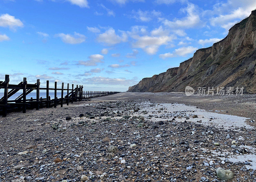
[[[0,181],[255,182],[256,96],[184,95],[122,92],[10,113]]]

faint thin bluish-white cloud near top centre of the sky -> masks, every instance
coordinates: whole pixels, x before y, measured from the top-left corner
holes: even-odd
[[[133,10],[131,15],[132,18],[139,21],[144,21],[144,22],[150,21],[152,20],[152,18],[159,17],[159,16],[161,16],[161,12],[158,12],[156,10],[153,10],[153,11],[138,10],[137,12]]]

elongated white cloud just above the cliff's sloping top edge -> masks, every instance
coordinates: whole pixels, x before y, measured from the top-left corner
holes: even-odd
[[[166,58],[173,58],[177,56],[187,56],[190,53],[193,53],[197,50],[196,47],[188,46],[188,47],[181,47],[179,49],[175,49],[172,53],[168,52],[165,54],[160,54],[159,58],[166,59]]]

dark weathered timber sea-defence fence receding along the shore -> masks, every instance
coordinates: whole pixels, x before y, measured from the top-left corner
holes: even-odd
[[[72,88],[69,88],[69,83],[67,84],[66,89],[64,89],[64,83],[61,84],[61,89],[58,89],[57,82],[55,82],[54,88],[49,88],[48,80],[46,81],[46,88],[41,88],[39,79],[35,84],[27,83],[27,78],[23,78],[23,82],[20,82],[17,85],[9,84],[9,81],[9,75],[5,75],[5,80],[0,81],[0,89],[4,89],[4,97],[0,99],[0,113],[2,112],[3,117],[7,115],[7,112],[22,110],[23,113],[26,113],[26,109],[36,108],[36,110],[38,110],[39,108],[43,107],[57,107],[59,104],[60,107],[63,107],[63,104],[68,105],[70,102],[73,103],[82,101],[84,99],[119,93],[116,91],[83,91],[83,85],[79,85],[79,87],[76,85],[74,88],[74,84],[72,84]],[[15,100],[8,100],[19,90],[23,91],[20,96],[18,96]],[[36,99],[27,99],[26,96],[34,90],[36,90]],[[40,90],[46,90],[46,98],[40,98]],[[49,90],[54,91],[54,99],[50,98]],[[61,91],[61,98],[57,97],[57,91]],[[65,96],[64,91],[67,91]]]

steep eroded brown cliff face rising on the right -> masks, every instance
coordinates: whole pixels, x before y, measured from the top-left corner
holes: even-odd
[[[256,93],[256,10],[229,29],[228,36],[199,49],[179,67],[143,78],[129,87],[133,92],[185,91],[186,86],[242,87]]]

